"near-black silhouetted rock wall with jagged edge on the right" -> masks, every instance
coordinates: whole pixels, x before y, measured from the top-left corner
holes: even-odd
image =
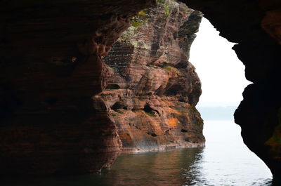
[[[204,16],[228,41],[242,60],[245,75],[254,84],[244,93],[235,112],[242,137],[273,173],[281,178],[280,20],[281,2],[184,1]]]

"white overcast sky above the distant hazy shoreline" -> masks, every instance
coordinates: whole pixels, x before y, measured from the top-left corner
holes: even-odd
[[[190,62],[202,82],[198,106],[237,106],[244,88],[251,84],[244,77],[244,65],[231,49],[234,44],[218,34],[203,18],[190,49]]]

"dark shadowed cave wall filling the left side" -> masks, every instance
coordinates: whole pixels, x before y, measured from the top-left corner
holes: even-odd
[[[0,175],[89,173],[122,144],[103,63],[153,1],[5,1],[0,7]]]

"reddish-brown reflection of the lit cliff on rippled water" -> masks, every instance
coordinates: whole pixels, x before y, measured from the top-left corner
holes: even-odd
[[[200,161],[201,152],[202,149],[185,149],[124,155],[104,178],[117,175],[110,185],[185,185],[185,171],[190,171],[190,180],[195,179],[195,170],[190,169],[195,161]]]

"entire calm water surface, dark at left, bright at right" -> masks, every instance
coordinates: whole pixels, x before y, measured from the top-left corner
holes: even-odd
[[[102,173],[10,180],[4,185],[270,185],[270,171],[242,143],[239,133],[233,121],[205,121],[205,148],[122,154],[112,168]]]

